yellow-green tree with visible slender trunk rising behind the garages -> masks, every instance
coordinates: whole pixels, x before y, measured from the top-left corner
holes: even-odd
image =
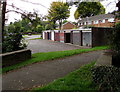
[[[48,19],[54,24],[59,22],[59,29],[61,29],[62,21],[67,19],[70,15],[69,6],[63,2],[52,2],[48,10]]]

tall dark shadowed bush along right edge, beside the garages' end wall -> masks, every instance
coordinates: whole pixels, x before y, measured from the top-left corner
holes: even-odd
[[[112,65],[120,67],[120,23],[117,23],[113,28],[110,39],[110,48],[113,51]]]

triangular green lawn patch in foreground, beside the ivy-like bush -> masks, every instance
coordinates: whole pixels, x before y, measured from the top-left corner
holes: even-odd
[[[63,78],[57,79],[48,85],[39,88],[33,88],[31,92],[44,92],[47,90],[80,90],[81,92],[94,92],[97,87],[92,83],[91,69],[95,62],[86,64],[79,68],[78,70],[69,73]]]

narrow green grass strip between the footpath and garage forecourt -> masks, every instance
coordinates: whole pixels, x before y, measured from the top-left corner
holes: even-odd
[[[94,47],[94,48],[89,48],[89,49],[75,49],[75,50],[67,50],[67,51],[55,51],[55,52],[46,52],[46,53],[35,53],[32,54],[32,58],[29,60],[26,60],[24,62],[18,63],[16,65],[12,65],[9,67],[4,67],[2,68],[2,72],[8,72],[13,69],[17,69],[23,66],[26,66],[28,64],[36,63],[36,62],[42,62],[46,60],[53,60],[57,58],[63,58],[66,56],[72,56],[75,54],[80,54],[84,52],[89,52],[89,51],[96,51],[96,50],[104,50],[107,49],[107,46],[100,46],[100,47]]]

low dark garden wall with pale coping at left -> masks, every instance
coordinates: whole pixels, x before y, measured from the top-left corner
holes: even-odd
[[[15,65],[31,58],[31,50],[24,49],[10,53],[0,54],[2,57],[2,67]]]

